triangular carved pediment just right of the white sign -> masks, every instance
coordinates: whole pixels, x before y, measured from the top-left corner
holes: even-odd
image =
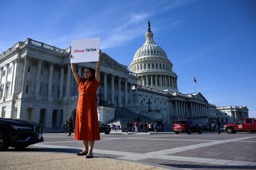
[[[119,64],[117,61],[115,61],[113,58],[111,58],[106,53],[101,54],[100,65],[103,65],[105,67],[109,67],[111,69],[116,69],[117,71],[121,71],[121,72],[124,72],[124,73],[127,73],[127,74],[130,73],[130,71],[127,69],[127,66]]]

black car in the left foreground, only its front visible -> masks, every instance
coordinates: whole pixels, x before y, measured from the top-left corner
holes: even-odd
[[[0,151],[8,147],[25,148],[31,144],[44,142],[44,126],[21,119],[0,118]]]

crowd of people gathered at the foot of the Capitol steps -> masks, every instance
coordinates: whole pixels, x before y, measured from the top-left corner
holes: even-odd
[[[128,132],[141,132],[141,133],[147,133],[147,132],[166,132],[166,122],[163,123],[162,119],[161,121],[158,119],[155,120],[155,123],[149,123],[149,122],[142,122],[140,120],[140,117],[137,117],[137,119],[134,118],[134,121],[128,121],[126,123],[125,128],[126,133]]]

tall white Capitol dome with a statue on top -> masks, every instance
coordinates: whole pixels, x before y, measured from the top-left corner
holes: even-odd
[[[138,85],[178,92],[178,76],[172,71],[173,64],[168,59],[165,50],[154,42],[154,33],[151,32],[149,22],[148,26],[148,31],[145,33],[146,41],[136,51],[129,69],[140,78]]]

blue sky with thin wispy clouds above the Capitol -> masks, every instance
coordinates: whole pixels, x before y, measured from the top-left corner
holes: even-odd
[[[148,21],[178,75],[179,91],[216,106],[247,106],[256,118],[256,1],[3,1],[0,52],[26,38],[65,49],[101,38],[102,52],[129,66]]]

